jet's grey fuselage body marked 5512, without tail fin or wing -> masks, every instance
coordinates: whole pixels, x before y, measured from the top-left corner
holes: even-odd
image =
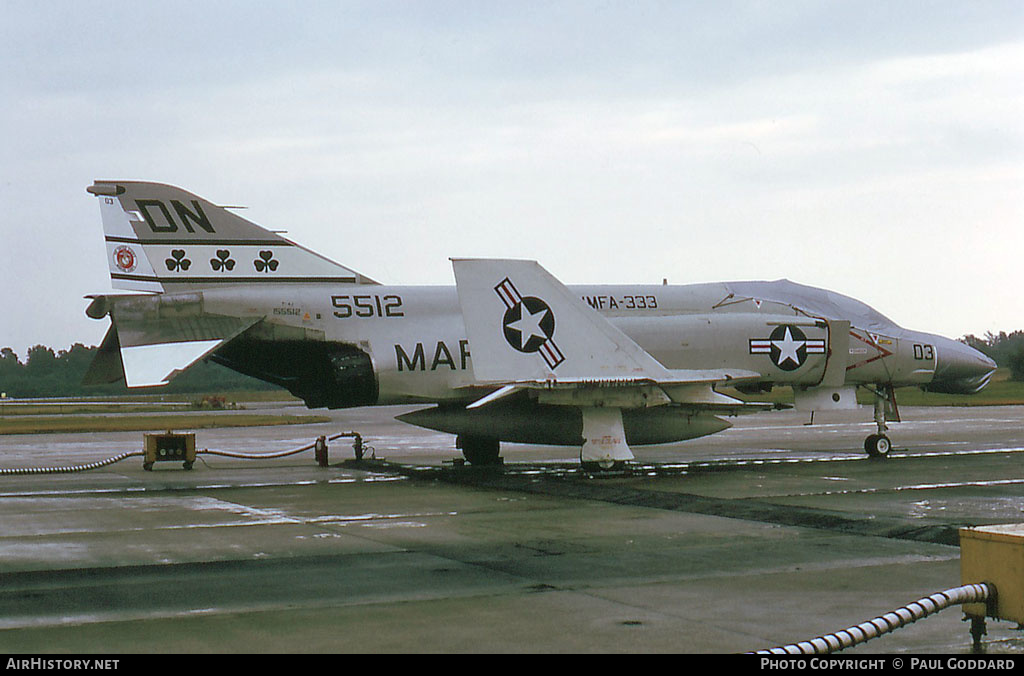
[[[962,362],[970,350],[941,336],[877,319],[858,326],[855,319],[843,341],[847,353],[829,354],[829,332],[837,330],[830,322],[844,318],[815,314],[798,299],[786,304],[777,292],[767,293],[777,283],[743,284],[746,291],[764,284],[762,295],[775,299],[729,298],[728,284],[569,289],[670,369],[740,368],[762,373],[763,383],[813,387],[839,357],[846,385],[928,385],[943,358]],[[373,364],[377,404],[473,398],[472,351],[454,287],[226,287],[202,296],[204,312],[265,318],[282,331],[357,347]]]

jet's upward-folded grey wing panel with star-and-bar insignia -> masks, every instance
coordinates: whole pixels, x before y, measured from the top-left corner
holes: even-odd
[[[452,263],[474,378],[477,384],[498,386],[472,407],[539,389],[546,403],[569,406],[675,403],[734,409],[742,403],[712,385],[761,376],[742,369],[667,369],[537,261]]]

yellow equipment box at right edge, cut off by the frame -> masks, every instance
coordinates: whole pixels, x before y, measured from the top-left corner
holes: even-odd
[[[966,603],[969,618],[1024,625],[1024,523],[961,529],[961,581],[995,587],[988,603]]]

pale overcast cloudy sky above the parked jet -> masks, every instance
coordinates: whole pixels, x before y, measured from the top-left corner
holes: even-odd
[[[96,344],[95,178],[384,283],[788,278],[1024,329],[1024,3],[0,0],[0,346]]]

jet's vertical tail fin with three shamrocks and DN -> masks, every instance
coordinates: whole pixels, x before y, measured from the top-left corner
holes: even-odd
[[[182,291],[223,284],[376,284],[203,198],[173,185],[97,180],[115,288]]]

